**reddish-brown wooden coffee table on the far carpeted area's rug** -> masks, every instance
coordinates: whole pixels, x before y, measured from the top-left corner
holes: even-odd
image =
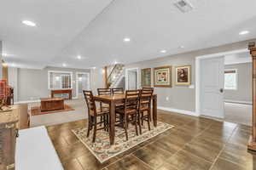
[[[64,110],[64,99],[62,98],[41,98],[41,111]]]

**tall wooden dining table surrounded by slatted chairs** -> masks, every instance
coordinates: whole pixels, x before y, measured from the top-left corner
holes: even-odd
[[[114,127],[115,127],[115,105],[125,103],[125,94],[114,95],[96,95],[94,96],[96,101],[109,105],[109,130],[110,130],[110,144],[114,144]],[[157,94],[153,94],[153,124],[157,126]]]

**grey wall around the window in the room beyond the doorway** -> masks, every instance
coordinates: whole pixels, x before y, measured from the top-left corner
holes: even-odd
[[[237,69],[237,90],[225,90],[224,99],[252,102],[252,63],[225,65],[225,69]]]

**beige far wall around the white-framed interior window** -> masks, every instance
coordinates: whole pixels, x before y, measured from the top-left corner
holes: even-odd
[[[73,72],[73,97],[76,96],[76,72],[90,72],[89,69],[69,69],[46,67],[37,69],[9,69],[9,81],[15,87],[15,101],[35,100],[49,97],[48,71],[72,71]]]

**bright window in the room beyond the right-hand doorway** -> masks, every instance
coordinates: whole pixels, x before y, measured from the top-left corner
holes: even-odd
[[[237,89],[237,70],[224,71],[224,89],[236,90]]]

